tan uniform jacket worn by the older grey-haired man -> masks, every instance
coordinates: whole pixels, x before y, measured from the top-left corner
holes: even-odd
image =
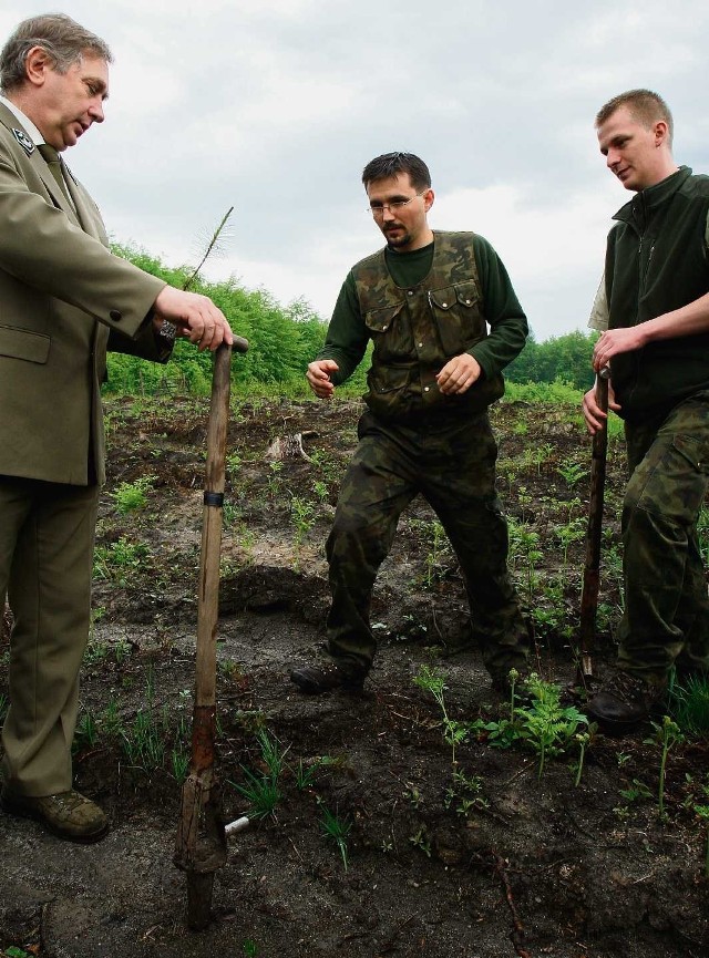
[[[165,284],[107,249],[86,190],[68,176],[72,208],[31,147],[0,103],[0,475],[102,483],[106,349],[167,358],[146,319]]]

